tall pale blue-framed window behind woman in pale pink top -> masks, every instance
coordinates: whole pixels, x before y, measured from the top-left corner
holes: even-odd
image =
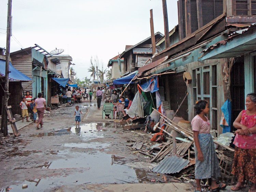
[[[217,131],[217,65],[209,65],[192,71],[194,103],[204,99],[208,101],[211,127]]]

